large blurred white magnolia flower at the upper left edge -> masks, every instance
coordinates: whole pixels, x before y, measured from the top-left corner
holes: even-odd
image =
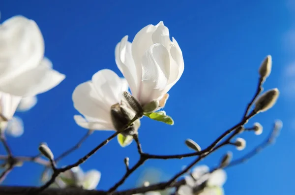
[[[44,58],[43,36],[33,20],[14,16],[0,25],[0,91],[35,96],[57,86],[65,75]]]

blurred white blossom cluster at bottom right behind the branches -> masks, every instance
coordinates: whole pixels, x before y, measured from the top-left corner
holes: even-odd
[[[185,176],[185,181],[186,185],[180,186],[178,195],[223,195],[226,173],[223,169],[210,173],[206,165],[201,165],[194,168],[190,176]]]

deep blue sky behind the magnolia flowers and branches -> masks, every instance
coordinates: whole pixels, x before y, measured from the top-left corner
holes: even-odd
[[[255,93],[258,68],[266,55],[272,55],[273,67],[264,88],[278,87],[282,93],[277,104],[252,119],[260,122],[264,133],[244,133],[244,151],[228,146],[202,164],[214,166],[227,150],[238,158],[259,144],[281,119],[284,128],[276,144],[246,164],[227,170],[226,195],[277,195],[293,191],[295,157],[295,2],[294,0],[108,0],[51,1],[2,0],[1,21],[24,15],[36,21],[44,39],[46,56],[66,79],[53,90],[38,96],[38,104],[19,113],[25,133],[9,138],[15,155],[35,155],[38,144],[46,141],[58,155],[86,133],[78,127],[71,100],[74,88],[89,80],[96,71],[110,68],[120,72],[115,63],[117,42],[126,34],[132,40],[148,24],[164,21],[182,50],[185,69],[169,92],[167,114],[174,126],[142,120],[140,139],[144,151],[154,154],[188,152],[187,138],[205,148],[224,130],[236,124],[246,104]],[[293,69],[292,69],[293,68]],[[292,72],[293,70],[293,72]],[[75,153],[60,165],[75,162],[108,137],[111,132],[96,131]],[[291,150],[291,151],[290,151]],[[2,154],[3,148],[0,148]],[[136,145],[121,148],[116,140],[82,165],[96,168],[102,177],[97,189],[107,190],[124,174],[123,159],[137,161]],[[152,160],[145,163],[120,189],[134,187],[147,168],[163,172],[161,180],[177,173],[193,158]],[[38,185],[42,167],[26,163],[6,179],[7,185]],[[25,177],[24,177],[25,176]],[[24,179],[25,178],[25,179]]]

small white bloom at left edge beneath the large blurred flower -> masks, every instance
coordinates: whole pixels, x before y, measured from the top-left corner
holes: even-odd
[[[22,97],[0,92],[0,129],[5,130]]]

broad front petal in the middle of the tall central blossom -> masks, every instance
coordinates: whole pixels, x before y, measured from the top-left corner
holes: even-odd
[[[142,59],[142,67],[143,78],[138,100],[144,105],[164,95],[170,72],[167,49],[159,43],[152,45]]]

